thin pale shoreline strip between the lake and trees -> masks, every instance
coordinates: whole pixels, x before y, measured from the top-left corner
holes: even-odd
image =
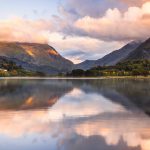
[[[150,76],[107,76],[107,77],[0,77],[4,79],[18,80],[102,80],[102,79],[150,79]]]

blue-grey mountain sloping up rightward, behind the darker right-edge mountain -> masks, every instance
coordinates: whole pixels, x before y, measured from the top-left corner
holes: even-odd
[[[98,60],[86,60],[75,66],[75,69],[88,70],[95,66],[112,66],[125,59],[132,51],[134,51],[141,42],[130,42],[119,50],[113,51]]]

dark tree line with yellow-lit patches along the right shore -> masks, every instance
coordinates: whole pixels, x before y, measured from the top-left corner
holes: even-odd
[[[89,70],[75,69],[66,74],[66,76],[72,77],[148,75],[150,75],[150,60],[124,61],[114,66],[97,66]]]

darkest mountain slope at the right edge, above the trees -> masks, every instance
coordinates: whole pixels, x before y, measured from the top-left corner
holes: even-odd
[[[150,38],[132,51],[125,60],[150,59]]]

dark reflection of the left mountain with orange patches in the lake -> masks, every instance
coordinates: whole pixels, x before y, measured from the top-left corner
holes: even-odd
[[[71,90],[72,86],[58,80],[0,80],[0,110],[52,106]]]

